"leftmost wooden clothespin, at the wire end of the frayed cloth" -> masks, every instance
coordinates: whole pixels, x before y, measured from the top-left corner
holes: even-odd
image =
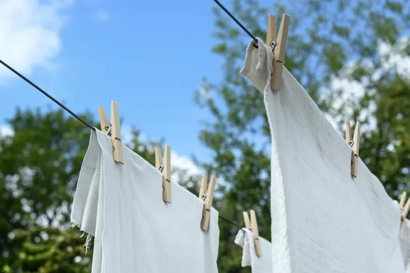
[[[114,148],[113,157],[117,163],[124,164],[123,142],[121,141],[120,115],[118,114],[118,104],[111,100],[111,124],[108,122],[104,107],[98,106],[100,116],[101,131],[111,137]]]

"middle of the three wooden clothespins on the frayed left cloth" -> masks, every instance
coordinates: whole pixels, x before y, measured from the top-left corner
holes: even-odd
[[[171,204],[171,147],[165,145],[164,161],[161,149],[155,147],[155,168],[163,173],[163,199]]]

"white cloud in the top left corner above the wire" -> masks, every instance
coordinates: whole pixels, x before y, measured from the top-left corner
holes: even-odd
[[[47,67],[61,51],[63,12],[72,0],[0,0],[0,59],[23,74]],[[0,78],[12,75],[0,66]]]

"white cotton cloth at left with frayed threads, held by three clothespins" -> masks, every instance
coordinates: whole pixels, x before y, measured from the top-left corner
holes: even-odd
[[[162,199],[162,173],[126,146],[124,164],[110,137],[91,132],[71,221],[95,236],[92,273],[217,273],[218,212],[200,227],[204,202],[172,182]]]

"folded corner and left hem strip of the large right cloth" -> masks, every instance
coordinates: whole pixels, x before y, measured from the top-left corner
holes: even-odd
[[[268,100],[273,96],[277,96],[278,92],[272,92],[270,88],[270,78],[272,70],[273,54],[271,50],[264,44],[261,39],[258,39],[258,49],[253,47],[253,40],[249,43],[246,49],[246,57],[244,61],[244,68],[241,70],[241,74],[249,78],[255,87],[263,92],[264,103],[266,107],[266,115],[269,123],[269,129],[274,132],[274,121],[270,119],[270,114],[275,109],[269,108]],[[255,51],[257,51],[257,60],[255,60]],[[255,63],[257,61],[257,63]],[[285,67],[284,67],[285,70]],[[256,73],[255,73],[256,72]],[[255,75],[256,74],[256,75]],[[264,85],[258,82],[258,78],[263,78]],[[280,114],[280,111],[277,113]],[[274,115],[276,117],[277,115]],[[278,117],[281,118],[281,117]],[[282,170],[280,166],[280,160],[278,151],[276,150],[277,141],[275,136],[271,133],[272,150],[271,150],[271,196],[278,195],[282,197],[271,197],[271,233],[272,241],[272,269],[273,272],[291,273],[291,260],[289,251],[289,242],[287,234],[287,213],[285,203],[285,185],[282,177]],[[280,227],[280,228],[279,228]],[[274,255],[273,255],[274,254]]]

